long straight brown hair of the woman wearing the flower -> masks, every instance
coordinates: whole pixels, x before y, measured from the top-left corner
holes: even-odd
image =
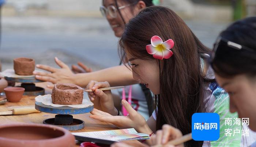
[[[157,129],[172,125],[183,134],[191,132],[192,115],[204,111],[205,75],[200,65],[200,54],[210,53],[185,22],[172,10],[161,6],[145,8],[131,19],[120,38],[118,48],[123,63],[127,63],[125,48],[134,57],[156,60],[146,51],[150,39],[158,35],[166,41],[173,39],[173,56],[164,59],[160,79],[160,94],[155,99],[158,108]],[[189,141],[186,146],[202,146],[203,142]]]

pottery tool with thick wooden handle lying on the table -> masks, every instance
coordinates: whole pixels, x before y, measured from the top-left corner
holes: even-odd
[[[14,108],[11,111],[0,112],[0,115],[20,115],[20,114],[30,114],[30,113],[40,113],[33,107],[23,107],[23,108]]]

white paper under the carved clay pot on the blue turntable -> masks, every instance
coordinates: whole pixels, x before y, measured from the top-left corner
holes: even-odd
[[[85,93],[83,95],[83,102],[82,102],[82,104],[79,104],[79,105],[59,105],[59,104],[54,104],[54,103],[52,103],[52,95],[51,94],[38,95],[37,97],[35,97],[35,101],[36,102],[41,102],[41,103],[43,103],[45,105],[53,106],[53,107],[69,106],[69,107],[72,107],[72,108],[86,108],[88,106],[93,106],[93,103],[86,98]]]

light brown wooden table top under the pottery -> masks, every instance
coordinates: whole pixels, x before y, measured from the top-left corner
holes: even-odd
[[[37,83],[39,87],[45,88],[46,94],[51,93],[49,88],[46,88],[47,82]],[[10,106],[26,106],[35,105],[34,96],[23,96],[23,98],[18,103],[7,102],[5,105],[0,105],[0,112],[8,111]],[[54,118],[56,114],[50,113],[31,113],[25,115],[14,115],[14,116],[0,116],[0,124],[11,123],[11,122],[25,122],[25,123],[37,123],[42,124],[43,120],[47,118]],[[74,114],[73,117],[84,121],[84,128],[78,131],[71,132],[90,132],[90,131],[105,131],[118,129],[112,124],[107,124],[105,122],[100,122],[89,117],[90,113],[85,114]],[[79,147],[79,145],[77,145]]]

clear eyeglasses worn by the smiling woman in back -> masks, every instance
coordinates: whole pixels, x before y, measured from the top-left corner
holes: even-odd
[[[116,18],[117,17],[117,9],[123,9],[125,7],[129,7],[132,4],[127,4],[127,5],[123,5],[120,6],[118,8],[114,7],[113,5],[109,5],[108,7],[104,7],[103,5],[101,7],[99,7],[99,10],[101,11],[102,16],[106,17],[107,14],[109,14],[109,16],[111,16],[112,18]]]

